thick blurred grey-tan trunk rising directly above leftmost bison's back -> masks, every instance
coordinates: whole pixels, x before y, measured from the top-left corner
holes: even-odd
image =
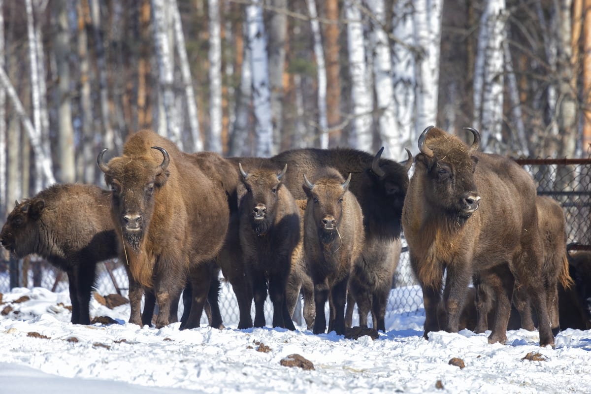
[[[72,127],[72,106],[70,103],[70,34],[67,17],[67,0],[54,2],[56,12],[57,35],[54,50],[57,60],[58,103],[58,145],[60,149],[60,181],[73,183],[76,180],[74,172],[74,129]]]

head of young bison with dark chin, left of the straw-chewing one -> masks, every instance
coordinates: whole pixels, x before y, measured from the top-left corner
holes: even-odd
[[[255,232],[265,235],[275,221],[278,192],[283,187],[281,178],[287,171],[287,164],[280,172],[266,169],[246,172],[242,163],[238,163],[238,169],[242,175],[243,187],[240,209],[248,213]]]

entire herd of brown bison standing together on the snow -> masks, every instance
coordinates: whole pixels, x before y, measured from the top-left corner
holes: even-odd
[[[567,252],[560,205],[537,197],[511,159],[479,152],[478,131],[467,130],[471,145],[425,129],[410,181],[410,152],[404,164],[381,158],[383,148],[224,158],[187,154],[139,131],[120,157],[98,155],[111,191],[53,185],[17,202],[0,240],[67,273],[75,324],[90,323],[96,264],[116,257],[129,278],[129,323],[151,324],[155,305],[157,328],[177,321],[182,294],[181,328],[198,327],[203,310],[223,327],[221,270],[236,295],[238,328],[267,323],[268,293],[273,327],[294,330],[301,293],[315,334],[327,326],[345,334],[355,304],[362,327],[371,311],[384,331],[404,229],[423,290],[424,337],[470,328],[504,343],[515,310],[521,327],[538,327],[541,346],[554,345],[561,325],[591,328],[591,258]]]

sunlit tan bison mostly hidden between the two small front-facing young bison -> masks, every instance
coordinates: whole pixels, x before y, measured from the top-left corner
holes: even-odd
[[[296,200],[300,209],[300,242],[291,255],[290,276],[287,278],[285,297],[287,308],[293,317],[296,304],[300,299],[300,291],[304,296],[303,315],[308,330],[314,328],[314,317],[316,317],[316,305],[314,304],[314,281],[304,259],[304,213],[306,212],[307,200]]]

